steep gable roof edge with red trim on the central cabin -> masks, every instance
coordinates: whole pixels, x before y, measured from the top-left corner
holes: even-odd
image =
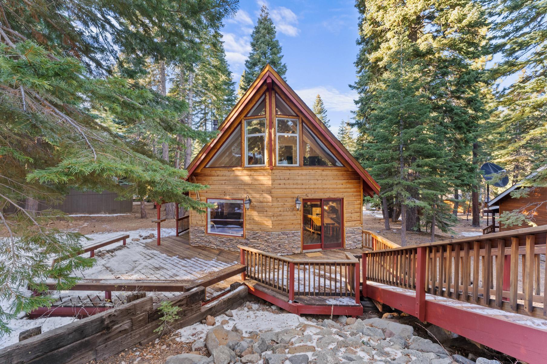
[[[372,196],[374,193],[380,192],[380,185],[371,177],[371,175],[366,172],[363,166],[351,155],[351,153],[340,143],[333,133],[324,126],[324,124],[317,118],[315,113],[306,105],[302,99],[296,95],[296,92],[281,78],[281,76],[270,66],[266,64],[266,67],[260,72],[257,79],[249,86],[249,89],[241,97],[240,101],[236,103],[234,108],[230,111],[228,116],[221,125],[220,133],[218,136],[211,140],[203,146],[200,152],[195,156],[194,160],[188,166],[188,177],[195,171],[200,162],[207,156],[208,152],[213,149],[213,146],[219,142],[220,136],[228,130],[232,123],[237,121],[237,116],[241,113],[241,110],[249,102],[249,100],[254,96],[254,94],[260,89],[260,87],[266,83],[268,89],[272,87],[272,83],[275,83],[277,87],[283,92],[284,96],[287,97],[290,102],[296,105],[296,108],[302,113],[307,120],[311,121],[312,124],[317,128],[321,135],[327,139],[329,144],[333,146],[334,149],[344,158],[346,163],[350,165],[359,175],[363,178],[365,184],[363,185],[364,190],[368,195]]]

